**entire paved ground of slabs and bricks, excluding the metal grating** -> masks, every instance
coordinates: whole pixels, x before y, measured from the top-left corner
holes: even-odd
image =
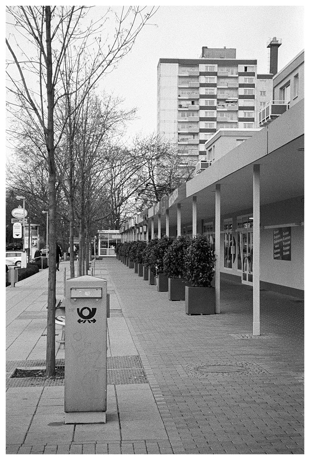
[[[221,314],[187,316],[120,261],[96,275],[110,289],[108,356],[139,354],[148,383],[108,385],[105,425],[64,425],[63,386],[9,388],[7,453],[303,453],[303,303],[262,291],[253,337],[248,286],[223,281]],[[27,308],[9,291],[8,360],[44,357],[44,320],[24,314],[45,308],[36,276]]]

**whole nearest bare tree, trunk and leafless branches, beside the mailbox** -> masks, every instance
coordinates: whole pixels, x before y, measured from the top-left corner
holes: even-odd
[[[84,30],[81,20],[88,8],[67,6],[7,7],[9,29],[14,35],[6,39],[12,57],[7,61],[8,90],[11,93],[11,113],[18,118],[27,112],[44,136],[46,151],[43,154],[48,165],[48,210],[50,266],[47,299],[46,376],[55,375],[55,306],[56,306],[56,165],[55,151],[66,127],[59,129],[55,137],[54,114],[59,101],[65,97],[66,88],[60,78],[67,53],[88,53],[84,78],[80,86],[89,90],[100,76],[131,50],[137,35],[154,14],[151,8],[122,8],[116,16],[116,33],[111,42],[101,41],[104,21],[100,18]],[[101,19],[103,24],[101,24]],[[18,34],[18,37],[15,37]],[[14,43],[14,44],[13,44]],[[77,107],[71,107],[76,110]],[[67,114],[69,116],[69,114]]]

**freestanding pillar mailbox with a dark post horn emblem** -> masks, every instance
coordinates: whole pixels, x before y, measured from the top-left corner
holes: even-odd
[[[66,281],[65,423],[105,423],[107,281]]]

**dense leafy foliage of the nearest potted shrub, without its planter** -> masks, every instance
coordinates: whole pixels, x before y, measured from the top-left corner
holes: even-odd
[[[189,240],[185,255],[185,278],[193,287],[211,287],[215,273],[212,244],[203,235]]]

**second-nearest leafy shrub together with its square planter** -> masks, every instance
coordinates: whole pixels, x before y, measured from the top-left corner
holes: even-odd
[[[189,240],[178,237],[168,247],[164,256],[164,273],[168,277],[168,298],[171,301],[185,300],[185,255]]]

